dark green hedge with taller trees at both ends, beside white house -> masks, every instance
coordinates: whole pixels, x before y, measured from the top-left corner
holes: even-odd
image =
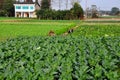
[[[83,9],[78,2],[75,2],[70,10],[51,9],[50,0],[42,0],[41,9],[36,12],[39,19],[71,20],[83,19]]]

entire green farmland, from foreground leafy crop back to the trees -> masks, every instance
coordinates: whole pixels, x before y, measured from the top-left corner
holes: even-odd
[[[119,22],[0,18],[0,80],[120,80]]]

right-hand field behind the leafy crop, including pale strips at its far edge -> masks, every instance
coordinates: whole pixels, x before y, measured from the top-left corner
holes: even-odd
[[[87,19],[74,31],[74,36],[120,36],[120,19]]]

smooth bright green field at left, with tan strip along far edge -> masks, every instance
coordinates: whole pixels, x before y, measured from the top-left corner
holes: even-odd
[[[59,35],[74,26],[74,21],[0,18],[0,40],[18,36],[46,36],[50,30]]]

